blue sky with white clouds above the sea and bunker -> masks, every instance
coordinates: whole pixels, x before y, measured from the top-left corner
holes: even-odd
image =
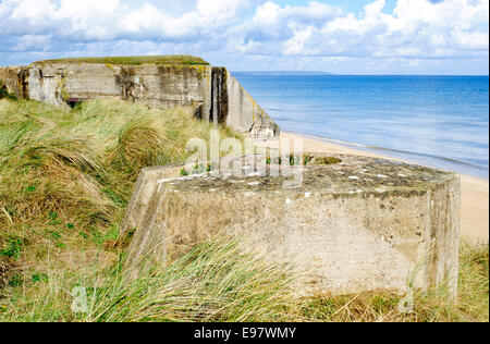
[[[489,72],[488,0],[0,0],[0,65],[199,56],[231,71]]]

